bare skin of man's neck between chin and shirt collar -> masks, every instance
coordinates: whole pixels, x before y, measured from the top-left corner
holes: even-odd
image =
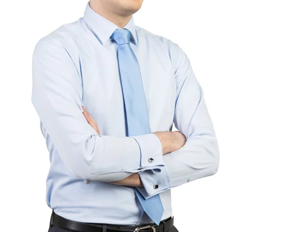
[[[89,5],[96,13],[113,22],[120,28],[123,28],[131,18],[131,15],[124,16],[112,13],[110,10],[102,6],[99,1],[90,2]]]

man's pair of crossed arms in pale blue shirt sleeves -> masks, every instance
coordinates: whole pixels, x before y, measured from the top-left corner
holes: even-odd
[[[74,176],[135,186],[149,198],[217,172],[218,143],[202,88],[186,54],[174,43],[169,46],[177,93],[173,121],[179,132],[114,137],[100,135],[84,117],[82,81],[63,46],[58,41],[38,43],[32,102]],[[150,158],[155,161],[148,162]]]

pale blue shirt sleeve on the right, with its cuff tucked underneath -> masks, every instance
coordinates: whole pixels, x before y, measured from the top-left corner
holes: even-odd
[[[176,80],[175,127],[186,136],[181,149],[163,156],[165,166],[160,170],[139,173],[147,199],[169,188],[199,178],[214,175],[219,167],[219,148],[202,88],[184,51],[171,44],[172,64]]]

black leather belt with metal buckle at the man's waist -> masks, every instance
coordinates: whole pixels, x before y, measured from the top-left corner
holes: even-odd
[[[60,217],[54,211],[51,215],[50,226],[55,225],[60,229],[76,232],[168,232],[174,224],[174,217],[169,217],[157,224],[147,224],[140,226],[82,223],[71,221]]]

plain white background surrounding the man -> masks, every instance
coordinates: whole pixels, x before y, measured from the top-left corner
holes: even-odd
[[[1,231],[48,229],[32,53],[85,5],[0,3]],[[305,231],[304,12],[294,0],[145,0],[135,14],[137,25],[188,54],[219,140],[218,173],[172,190],[179,232]]]

